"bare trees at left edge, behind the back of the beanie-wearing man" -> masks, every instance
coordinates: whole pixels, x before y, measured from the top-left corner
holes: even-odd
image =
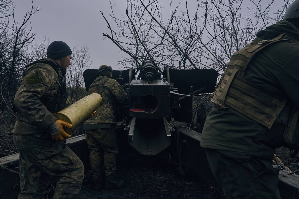
[[[0,0],[0,146],[7,149],[5,153],[15,149],[11,132],[16,115],[10,108],[23,69],[33,59],[28,49],[35,34],[29,22],[38,11],[32,2],[19,23],[14,18],[14,8],[10,0]]]

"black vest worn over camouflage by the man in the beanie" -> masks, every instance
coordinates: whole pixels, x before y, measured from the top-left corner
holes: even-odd
[[[37,61],[29,64],[28,66],[26,66],[26,68],[29,66],[32,66],[34,64],[38,64],[38,63],[50,65],[58,75],[58,79],[59,79],[58,81],[59,81],[60,87],[58,88],[57,95],[55,97],[43,95],[39,99],[42,102],[42,104],[45,105],[45,107],[48,109],[48,111],[50,111],[51,113],[56,113],[65,108],[66,100],[68,98],[68,94],[66,92],[65,77],[63,75],[59,74],[59,72],[58,72],[59,66],[57,64],[55,64],[53,61],[50,61],[47,59],[37,60]]]

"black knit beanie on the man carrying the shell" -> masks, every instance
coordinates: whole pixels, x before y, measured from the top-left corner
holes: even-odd
[[[71,54],[73,54],[71,48],[63,41],[53,41],[47,49],[48,58],[54,60],[66,57]]]

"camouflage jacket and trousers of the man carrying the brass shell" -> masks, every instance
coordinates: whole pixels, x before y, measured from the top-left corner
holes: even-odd
[[[58,73],[63,75],[61,70]],[[27,67],[21,81],[14,99],[18,117],[13,129],[20,152],[18,198],[43,198],[50,176],[58,178],[54,199],[77,198],[84,176],[83,163],[63,142],[51,139],[46,129],[57,118],[40,101],[41,97],[56,97],[60,88],[58,74],[50,65],[38,63]]]

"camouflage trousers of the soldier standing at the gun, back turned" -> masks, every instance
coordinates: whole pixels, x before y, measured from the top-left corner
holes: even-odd
[[[96,183],[101,181],[102,171],[105,175],[116,170],[116,154],[118,153],[115,127],[105,129],[92,129],[85,131],[89,149],[91,167],[91,180]]]

